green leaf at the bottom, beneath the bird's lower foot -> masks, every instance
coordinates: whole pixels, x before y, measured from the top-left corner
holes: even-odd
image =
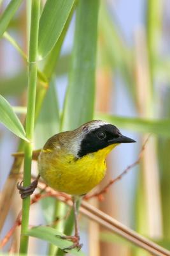
[[[64,236],[64,234],[57,231],[55,228],[51,228],[51,227],[45,227],[45,226],[34,227],[28,230],[25,235],[48,241],[49,243],[52,243],[55,246],[58,246],[60,249],[67,248],[71,246],[71,244],[73,244],[70,241],[62,239],[60,236]],[[78,250],[76,249],[73,249],[67,252],[75,256],[85,256],[83,252],[81,251],[78,252]]]

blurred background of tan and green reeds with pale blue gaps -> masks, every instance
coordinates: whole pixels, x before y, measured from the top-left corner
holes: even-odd
[[[9,2],[0,1],[1,12]],[[25,3],[22,3],[8,28],[8,33],[24,52],[27,52],[26,17]],[[53,76],[60,111],[67,88],[74,23],[73,15]],[[100,187],[134,163],[148,134],[152,136],[140,164],[109,189],[103,202],[92,199],[92,204],[170,249],[170,131],[169,123],[161,121],[168,121],[170,115],[169,24],[169,0],[101,0],[94,117],[117,125],[125,136],[137,143],[120,145],[111,152],[108,173]],[[26,63],[7,37],[4,35],[0,41],[0,93],[14,107],[26,106]],[[39,67],[42,65],[40,61]],[[15,111],[24,120],[24,108],[15,108]],[[51,115],[50,109],[48,115]],[[39,129],[37,125],[36,134]],[[10,173],[11,153],[17,150],[17,145],[18,139],[0,125],[0,191]],[[41,145],[35,142],[35,148],[38,147]],[[34,165],[36,169],[36,163]],[[1,239],[13,225],[21,204],[16,191]],[[30,224],[46,223],[45,214],[48,215],[43,212],[41,204],[33,205]],[[150,255],[87,218],[80,216],[80,220],[83,252],[87,255]],[[18,236],[19,228],[15,234],[16,247]],[[5,252],[8,252],[10,243],[4,248]],[[30,239],[30,243],[30,254],[48,254],[46,243],[37,239]]]

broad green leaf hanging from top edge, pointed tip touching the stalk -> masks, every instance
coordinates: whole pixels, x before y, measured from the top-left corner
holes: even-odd
[[[53,49],[62,33],[74,0],[47,0],[39,21],[39,60]]]

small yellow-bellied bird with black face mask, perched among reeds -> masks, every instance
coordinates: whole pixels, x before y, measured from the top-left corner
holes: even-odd
[[[120,143],[136,142],[118,130],[115,125],[94,120],[73,131],[60,132],[46,141],[38,151],[39,175],[30,186],[18,184],[22,198],[31,195],[41,176],[46,184],[73,198],[75,233],[62,238],[73,241],[65,248],[80,250],[80,236],[76,212],[76,200],[97,186],[106,173],[106,156]]]

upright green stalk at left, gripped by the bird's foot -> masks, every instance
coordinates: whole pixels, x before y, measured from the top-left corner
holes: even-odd
[[[38,27],[39,27],[40,0],[32,0],[31,7],[31,31],[29,42],[29,70],[28,70],[28,102],[25,133],[31,141],[25,143],[24,157],[24,186],[31,183],[31,160],[32,160],[32,138],[34,134],[34,115],[36,102],[36,80],[37,67],[36,56],[38,48]],[[22,203],[22,226],[20,239],[20,253],[27,253],[28,237],[24,236],[29,225],[30,196],[25,198]]]

